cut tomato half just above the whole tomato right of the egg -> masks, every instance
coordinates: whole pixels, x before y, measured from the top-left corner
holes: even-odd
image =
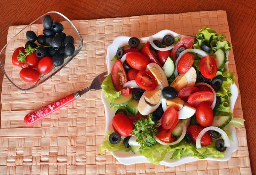
[[[188,103],[190,106],[196,108],[202,102],[205,102],[205,103],[211,105],[213,102],[213,99],[214,99],[214,95],[212,92],[200,91],[200,92],[195,92],[195,93],[189,95]]]

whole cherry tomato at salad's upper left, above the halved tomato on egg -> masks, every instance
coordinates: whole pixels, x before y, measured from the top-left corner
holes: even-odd
[[[133,69],[142,71],[142,70],[146,69],[146,67],[149,63],[149,59],[148,59],[148,57],[141,54],[140,52],[129,52],[126,55],[126,62]]]

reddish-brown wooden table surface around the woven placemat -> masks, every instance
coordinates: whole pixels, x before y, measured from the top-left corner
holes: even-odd
[[[239,77],[252,172],[256,171],[256,1],[255,0],[0,0],[0,48],[8,27],[24,25],[48,11],[70,20],[225,10]],[[3,72],[0,72],[2,84]],[[2,87],[0,86],[0,91]]]

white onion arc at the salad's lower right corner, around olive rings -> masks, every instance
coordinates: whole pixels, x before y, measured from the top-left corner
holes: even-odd
[[[222,129],[215,127],[215,126],[209,126],[207,128],[204,128],[198,135],[198,138],[196,139],[196,148],[201,148],[201,138],[204,136],[204,134],[209,131],[213,130],[221,134],[223,140],[224,140],[224,146],[230,147],[230,139],[228,138],[226,132],[224,132]]]

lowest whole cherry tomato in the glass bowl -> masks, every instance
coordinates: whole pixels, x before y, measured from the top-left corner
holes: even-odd
[[[37,72],[37,70],[30,67],[25,67],[20,70],[20,78],[29,83],[36,82],[39,76],[40,74]]]

